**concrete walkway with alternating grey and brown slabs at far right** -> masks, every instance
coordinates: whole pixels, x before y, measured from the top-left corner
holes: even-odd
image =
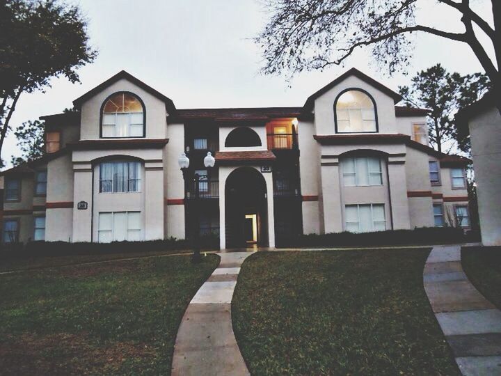
[[[501,375],[501,311],[468,281],[461,246],[435,246],[423,281],[461,373]]]

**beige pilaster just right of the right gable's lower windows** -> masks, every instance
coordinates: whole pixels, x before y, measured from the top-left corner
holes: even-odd
[[[404,161],[388,161],[393,230],[411,228]]]

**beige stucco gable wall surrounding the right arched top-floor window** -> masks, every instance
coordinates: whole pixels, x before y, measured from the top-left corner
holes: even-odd
[[[392,97],[367,84],[358,77],[350,76],[315,100],[316,134],[335,133],[334,102],[337,95],[347,88],[361,88],[372,95],[376,102],[379,133],[396,133],[395,102]]]

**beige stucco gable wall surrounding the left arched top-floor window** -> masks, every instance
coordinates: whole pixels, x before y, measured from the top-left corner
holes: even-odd
[[[118,91],[129,91],[143,100],[146,111],[146,138],[166,138],[165,103],[126,79],[120,79],[94,95],[81,106],[81,139],[100,138],[100,113],[103,102]]]

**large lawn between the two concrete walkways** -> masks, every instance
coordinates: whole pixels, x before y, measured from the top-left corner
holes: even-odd
[[[232,301],[253,375],[459,375],[424,292],[430,249],[263,252]]]

